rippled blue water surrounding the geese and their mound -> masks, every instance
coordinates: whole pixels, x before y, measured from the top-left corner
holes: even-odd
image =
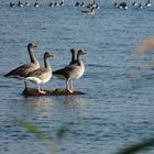
[[[3,3],[2,3],[3,2]],[[153,35],[154,8],[118,10],[106,2],[96,15],[82,15],[73,1],[65,7],[10,8],[0,4],[0,151],[1,154],[48,154],[48,147],[18,120],[41,130],[59,154],[111,154],[154,134],[154,74],[141,65],[148,52],[132,56],[140,41]],[[100,4],[103,4],[100,1]],[[85,96],[23,97],[24,85],[3,75],[29,59],[26,44],[36,42],[36,56],[53,52],[53,69],[69,63],[69,50],[86,48],[86,72],[75,88]],[[35,85],[31,85],[35,86]],[[64,87],[53,78],[42,86]],[[67,128],[63,135],[59,130]],[[153,153],[144,151],[144,153]]]

